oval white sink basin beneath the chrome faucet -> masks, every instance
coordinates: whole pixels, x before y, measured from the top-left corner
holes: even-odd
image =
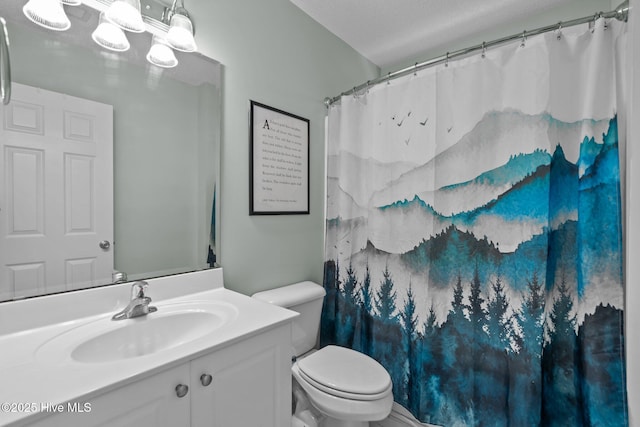
[[[157,312],[134,319],[114,321],[109,315],[84,323],[46,341],[36,357],[81,363],[142,357],[200,339],[237,317],[231,304],[211,301],[157,307]]]

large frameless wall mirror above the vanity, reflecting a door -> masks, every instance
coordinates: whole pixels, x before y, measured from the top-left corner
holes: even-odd
[[[25,2],[0,5],[14,82],[0,110],[0,301],[217,266],[220,64],[175,52],[178,66],[159,68],[146,60],[149,33],[111,52],[91,38],[94,9],[64,6],[71,28],[57,32],[28,21]],[[46,102],[66,144],[53,153]],[[112,148],[101,160],[82,151],[91,144]],[[62,237],[50,239],[54,221]]]

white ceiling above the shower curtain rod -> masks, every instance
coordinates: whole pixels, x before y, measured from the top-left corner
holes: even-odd
[[[505,22],[523,21],[529,15],[546,12],[571,0],[291,2],[384,69],[423,52],[444,47],[454,39],[468,38]]]

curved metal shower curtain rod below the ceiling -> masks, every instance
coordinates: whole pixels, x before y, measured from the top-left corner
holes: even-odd
[[[536,36],[538,34],[547,33],[549,31],[561,30],[562,28],[586,24],[588,22],[595,23],[595,21],[600,18],[605,18],[605,19],[615,18],[615,19],[618,19],[619,21],[626,22],[628,16],[629,16],[629,0],[625,0],[615,10],[612,10],[610,12],[598,12],[595,15],[585,16],[584,18],[573,19],[571,21],[566,21],[566,22],[560,21],[557,24],[547,25],[546,27],[536,28],[535,30],[529,30],[529,31],[525,30],[522,33],[513,34],[511,36],[502,37],[489,42],[482,42],[475,46],[467,47],[467,48],[456,50],[453,52],[447,52],[445,55],[441,55],[424,62],[420,62],[420,63],[416,62],[416,64],[413,66],[406,67],[401,70],[394,71],[392,73],[388,73],[386,76],[381,76],[373,80],[368,80],[366,83],[363,83],[359,86],[355,86],[353,89],[348,90],[346,92],[342,92],[340,95],[335,96],[333,98],[327,97],[324,99],[324,104],[327,108],[329,108],[333,103],[338,102],[342,96],[353,95],[373,85],[405,76],[409,73],[422,70],[432,65],[436,65],[442,62],[447,62],[450,59],[456,58],[458,56],[465,56],[479,50],[485,51],[490,47],[494,47],[494,46],[507,43],[510,41],[514,41],[514,40],[522,40],[524,42],[524,40],[529,36]]]

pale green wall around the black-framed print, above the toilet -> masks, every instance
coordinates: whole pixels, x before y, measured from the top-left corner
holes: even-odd
[[[289,0],[187,0],[199,50],[223,67],[221,252],[227,288],[322,281],[323,100],[378,68]],[[249,100],[311,121],[309,215],[249,216]]]

